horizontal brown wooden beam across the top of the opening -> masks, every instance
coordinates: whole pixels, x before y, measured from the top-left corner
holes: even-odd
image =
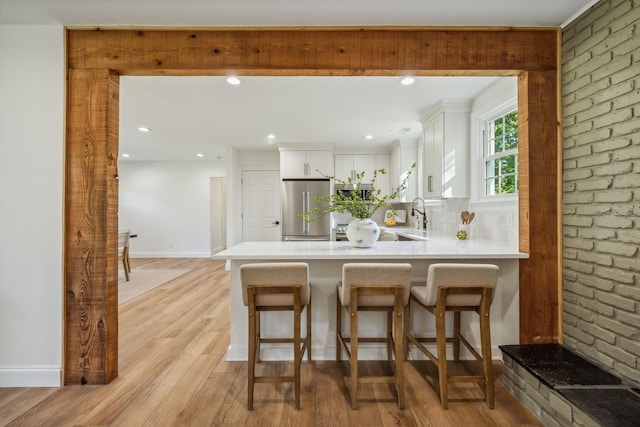
[[[71,31],[68,64],[128,75],[486,74],[556,69],[556,42],[549,30]]]

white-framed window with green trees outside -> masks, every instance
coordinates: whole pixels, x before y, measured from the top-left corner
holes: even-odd
[[[486,122],[484,129],[484,195],[518,192],[518,111]]]

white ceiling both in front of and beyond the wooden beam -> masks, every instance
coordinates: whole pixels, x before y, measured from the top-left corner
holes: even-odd
[[[553,26],[597,0],[0,0],[0,25]],[[224,158],[278,143],[381,146],[417,137],[438,99],[472,98],[495,78],[123,77],[120,151],[130,160]],[[515,83],[514,83],[515,84]],[[137,131],[152,128],[150,133]],[[266,136],[276,135],[269,145]],[[365,141],[366,134],[373,139]]]

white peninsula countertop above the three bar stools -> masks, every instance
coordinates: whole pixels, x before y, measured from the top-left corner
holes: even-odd
[[[301,259],[518,259],[529,255],[513,245],[489,240],[430,238],[425,241],[378,241],[371,248],[354,248],[350,242],[244,242],[213,259],[301,260]]]

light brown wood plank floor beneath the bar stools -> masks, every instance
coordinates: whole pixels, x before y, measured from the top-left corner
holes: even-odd
[[[190,272],[120,305],[119,376],[108,385],[0,388],[2,426],[540,426],[505,389],[497,373],[490,410],[474,385],[450,386],[442,410],[430,385],[430,362],[405,364],[406,409],[389,385],[365,384],[351,410],[346,363],[304,362],[300,411],[290,384],[257,384],[246,410],[244,362],[227,362],[229,276],[207,259],[132,259],[134,268]],[[259,373],[283,375],[286,362],[262,363]],[[454,366],[452,369],[468,369]],[[364,372],[388,369],[364,362]]]

